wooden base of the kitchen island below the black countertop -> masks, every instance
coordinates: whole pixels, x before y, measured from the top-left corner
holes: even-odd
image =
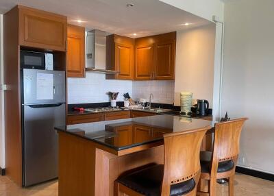
[[[163,146],[117,156],[97,143],[59,133],[59,196],[113,195],[113,182],[125,171],[163,163]]]

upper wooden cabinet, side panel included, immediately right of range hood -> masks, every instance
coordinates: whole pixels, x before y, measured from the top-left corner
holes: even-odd
[[[106,79],[133,79],[134,39],[124,36],[107,36],[106,68],[119,71],[116,75],[105,75]]]

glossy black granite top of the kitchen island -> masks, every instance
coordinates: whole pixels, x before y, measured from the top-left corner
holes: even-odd
[[[134,128],[136,126],[141,126],[142,132],[138,132],[138,129]],[[55,127],[55,130],[73,134],[119,151],[162,140],[164,133],[183,132],[206,126],[213,127],[214,124],[212,121],[202,119],[163,114],[134,119],[66,125],[63,127]],[[120,134],[119,131],[121,127],[123,127],[123,134]],[[156,127],[160,128],[161,132],[159,133],[162,134],[151,134],[151,132],[159,130],[153,129]],[[126,133],[125,129],[127,129]],[[143,130],[147,130],[150,136],[147,138],[143,137]],[[125,134],[127,134],[126,140]],[[138,137],[138,134],[142,134],[142,136]]]

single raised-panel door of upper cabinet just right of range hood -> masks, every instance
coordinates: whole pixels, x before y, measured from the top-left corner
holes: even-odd
[[[116,79],[133,79],[134,71],[134,47],[133,45],[124,45],[115,43],[115,67]]]

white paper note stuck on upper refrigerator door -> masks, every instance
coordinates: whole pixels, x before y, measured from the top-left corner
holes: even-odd
[[[36,99],[53,99],[53,74],[37,73]]]

